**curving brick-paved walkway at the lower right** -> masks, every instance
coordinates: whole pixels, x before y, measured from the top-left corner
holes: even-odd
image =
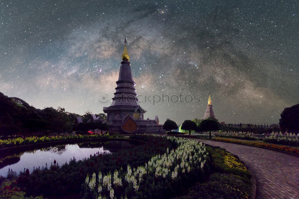
[[[258,147],[201,140],[225,148],[248,165],[257,181],[256,199],[298,199],[299,157]]]

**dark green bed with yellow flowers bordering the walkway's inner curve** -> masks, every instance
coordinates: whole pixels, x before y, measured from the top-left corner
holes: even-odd
[[[225,149],[207,146],[211,171],[206,183],[197,183],[187,195],[174,199],[246,199],[251,196],[250,173],[237,156]]]

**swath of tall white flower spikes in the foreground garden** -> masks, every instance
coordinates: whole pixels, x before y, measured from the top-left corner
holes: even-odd
[[[161,137],[161,135],[152,136]],[[139,189],[138,185],[143,181],[144,174],[148,174],[156,178],[160,176],[168,178],[168,174],[171,174],[171,178],[175,179],[178,177],[180,172],[185,173],[186,170],[187,172],[190,172],[199,166],[203,168],[208,157],[205,144],[184,138],[167,137],[167,139],[176,143],[176,150],[169,150],[167,148],[166,153],[153,156],[143,166],[138,166],[137,168],[133,168],[133,170],[130,165],[127,165],[127,171],[124,175],[124,179],[119,177],[119,172],[117,170],[114,171],[113,179],[110,172],[106,176],[102,176],[99,172],[98,192],[100,193],[102,188],[107,187],[108,191],[110,191],[110,198],[112,199],[114,197],[112,180],[114,187],[122,186],[122,180],[125,180],[128,183],[132,183],[134,190],[137,191]],[[122,173],[122,170],[120,170],[120,172]],[[86,177],[86,182],[91,189],[95,186],[95,180],[93,179],[95,179],[95,174],[93,174],[90,182],[88,176]]]

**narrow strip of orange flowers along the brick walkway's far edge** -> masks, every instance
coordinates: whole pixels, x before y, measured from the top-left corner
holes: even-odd
[[[265,147],[265,148],[285,151],[287,153],[295,153],[295,154],[299,155],[298,149],[294,149],[294,148],[287,147],[287,146],[279,146],[276,144],[267,144],[267,143],[260,143],[260,142],[246,142],[246,141],[228,140],[228,139],[221,139],[221,138],[217,138],[216,141],[225,141],[225,142],[231,142],[231,143],[237,143],[237,144],[246,144],[246,145],[256,146],[256,147]]]

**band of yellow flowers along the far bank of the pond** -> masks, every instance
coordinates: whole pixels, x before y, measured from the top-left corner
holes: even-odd
[[[17,147],[29,144],[39,144],[54,141],[63,140],[79,140],[79,139],[95,139],[95,138],[108,138],[109,133],[105,135],[52,135],[52,136],[32,136],[32,137],[18,137],[18,138],[8,138],[0,139],[0,149]]]

